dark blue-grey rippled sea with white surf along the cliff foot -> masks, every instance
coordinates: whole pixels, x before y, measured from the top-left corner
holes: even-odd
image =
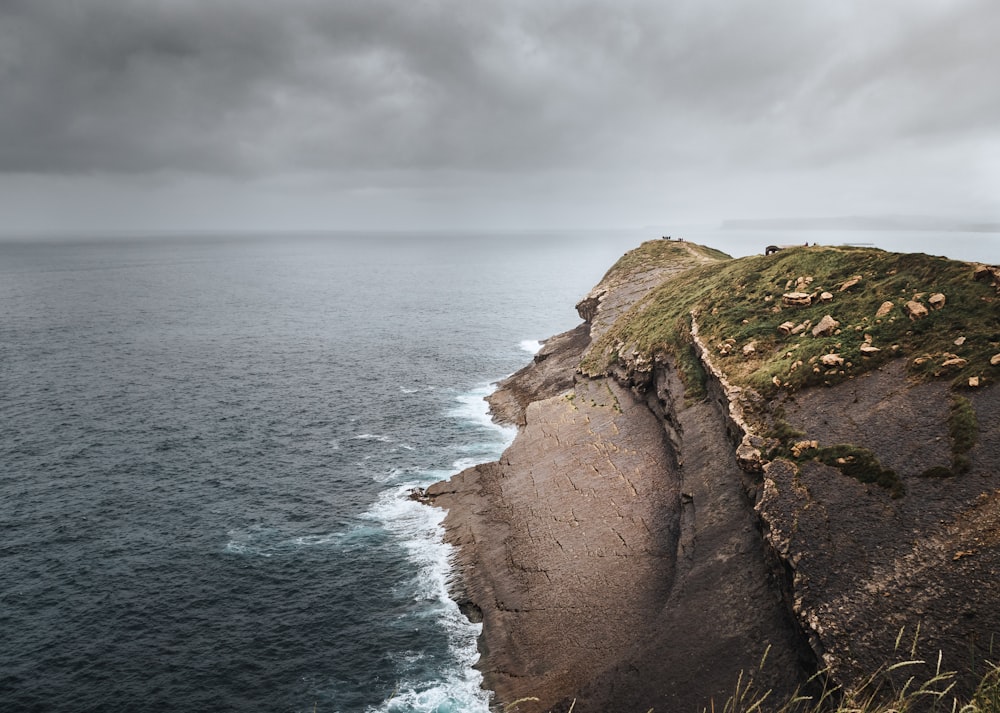
[[[0,237],[0,710],[488,711],[409,495],[499,456],[491,384],[652,237]]]

